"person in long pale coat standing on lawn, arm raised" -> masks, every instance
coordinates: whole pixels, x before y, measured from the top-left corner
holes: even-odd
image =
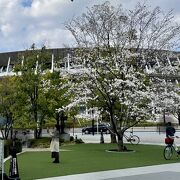
[[[54,158],[53,163],[59,163],[60,126],[56,124],[53,132],[50,132],[49,129],[47,129],[47,132],[52,137],[51,143],[50,143],[51,158]]]

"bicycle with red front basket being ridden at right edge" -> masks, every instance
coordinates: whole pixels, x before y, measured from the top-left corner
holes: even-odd
[[[176,136],[176,138],[179,138],[179,137]],[[169,137],[165,138],[166,146],[164,148],[163,154],[164,154],[164,159],[166,159],[166,160],[170,160],[172,158],[173,152],[176,152],[177,156],[179,156],[178,152],[174,148],[173,143],[174,143],[174,139],[169,138]]]

